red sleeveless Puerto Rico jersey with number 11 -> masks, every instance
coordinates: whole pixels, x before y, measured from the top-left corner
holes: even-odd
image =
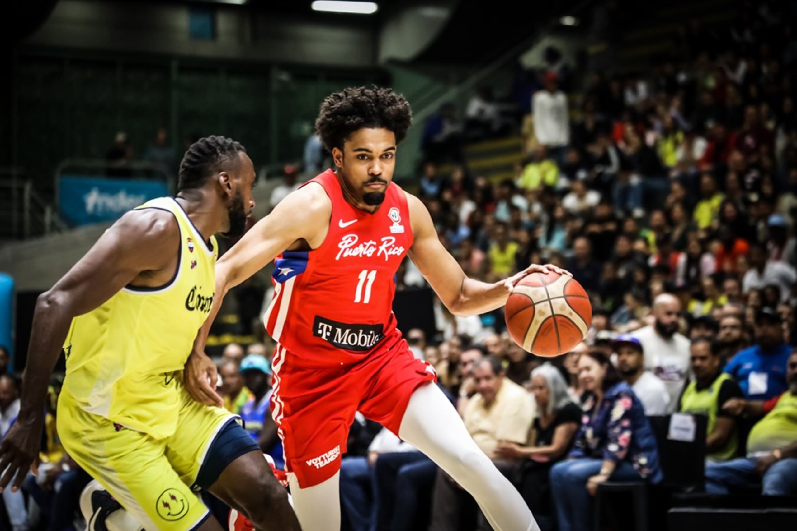
[[[277,256],[264,318],[274,341],[306,366],[354,363],[401,340],[392,306],[395,273],[413,241],[406,196],[391,183],[368,213],[344,199],[338,179],[327,170],[309,181],[332,201],[329,230],[319,248]]]

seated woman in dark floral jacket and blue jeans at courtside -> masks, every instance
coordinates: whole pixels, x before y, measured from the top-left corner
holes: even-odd
[[[584,353],[579,377],[587,391],[581,427],[569,459],[551,469],[559,531],[593,529],[591,496],[610,478],[662,480],[656,439],[642,404],[609,357],[595,350]]]

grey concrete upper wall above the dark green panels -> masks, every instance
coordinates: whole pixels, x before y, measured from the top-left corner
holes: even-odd
[[[362,20],[342,18],[332,24],[237,6],[198,6],[216,12],[212,41],[189,37],[186,5],[61,0],[24,44],[247,61],[375,64],[376,31]]]

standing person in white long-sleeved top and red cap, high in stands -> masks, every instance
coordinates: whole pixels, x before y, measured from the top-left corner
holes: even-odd
[[[563,149],[570,143],[570,118],[567,115],[567,96],[559,90],[556,72],[545,72],[544,90],[532,96],[534,134],[537,142],[548,147],[548,152],[563,165]]]

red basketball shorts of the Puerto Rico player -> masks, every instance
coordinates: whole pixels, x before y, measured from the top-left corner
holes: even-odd
[[[340,470],[355,412],[398,435],[420,385],[437,381],[406,341],[380,349],[355,364],[309,367],[301,354],[277,346],[271,408],[285,451],[285,470],[299,486],[318,485]]]

